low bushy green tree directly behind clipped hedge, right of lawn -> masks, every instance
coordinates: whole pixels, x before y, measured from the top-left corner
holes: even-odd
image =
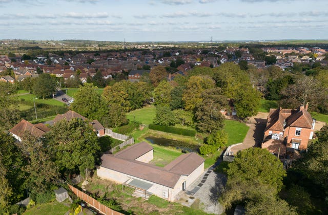
[[[156,106],[156,116],[153,120],[155,125],[165,125],[170,126],[174,125],[176,118],[168,106]]]

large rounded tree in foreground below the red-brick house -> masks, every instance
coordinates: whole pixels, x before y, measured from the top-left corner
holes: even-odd
[[[223,207],[242,203],[251,214],[277,214],[274,211],[288,210],[295,214],[293,208],[277,197],[286,173],[282,163],[267,149],[239,151],[229,164],[227,174],[226,189],[219,199]]]

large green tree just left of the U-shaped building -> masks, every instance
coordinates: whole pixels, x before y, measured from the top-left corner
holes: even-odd
[[[86,169],[94,168],[95,155],[100,147],[88,122],[77,118],[70,121],[63,119],[53,125],[45,138],[61,171],[85,174]]]

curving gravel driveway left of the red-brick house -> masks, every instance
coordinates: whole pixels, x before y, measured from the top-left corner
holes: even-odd
[[[231,148],[233,155],[236,155],[237,152],[242,149],[261,146],[268,115],[269,113],[258,113],[256,116],[250,118],[249,123],[247,124],[250,126],[250,129],[248,130],[244,141],[242,144]]]

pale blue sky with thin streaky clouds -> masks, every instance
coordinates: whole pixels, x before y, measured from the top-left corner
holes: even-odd
[[[327,0],[0,0],[0,39],[328,39]]]

